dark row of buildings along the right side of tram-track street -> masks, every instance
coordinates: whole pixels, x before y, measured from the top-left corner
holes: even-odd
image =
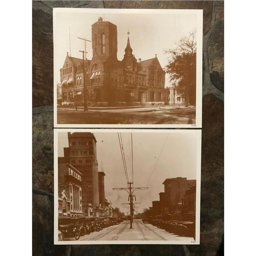
[[[151,215],[193,213],[196,206],[196,180],[185,177],[167,178],[159,201],[152,201]]]

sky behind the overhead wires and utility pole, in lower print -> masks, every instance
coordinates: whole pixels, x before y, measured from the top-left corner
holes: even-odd
[[[128,203],[128,193],[113,191],[113,187],[127,187],[118,134],[94,132],[96,137],[97,160],[102,162],[105,172],[105,198],[111,199],[112,207],[127,212],[122,203]],[[131,133],[122,132],[128,178],[131,180]],[[148,187],[135,193],[142,212],[159,200],[164,192],[163,181],[172,177],[196,179],[197,136],[195,133],[133,132],[134,187]],[[129,145],[130,142],[130,145]],[[68,147],[67,132],[58,133],[58,156],[64,156],[63,148]],[[99,166],[99,171],[101,168]]]

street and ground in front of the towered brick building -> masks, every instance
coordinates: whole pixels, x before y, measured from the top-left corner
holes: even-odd
[[[146,108],[58,108],[58,124],[195,124],[195,108],[177,106]]]

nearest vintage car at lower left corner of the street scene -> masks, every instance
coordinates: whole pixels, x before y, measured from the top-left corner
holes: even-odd
[[[76,217],[58,217],[58,230],[63,233],[63,238],[80,238],[79,218]]]

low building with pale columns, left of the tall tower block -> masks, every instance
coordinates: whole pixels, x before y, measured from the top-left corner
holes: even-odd
[[[58,163],[58,190],[59,215],[82,216],[81,172],[69,163]]]

